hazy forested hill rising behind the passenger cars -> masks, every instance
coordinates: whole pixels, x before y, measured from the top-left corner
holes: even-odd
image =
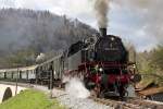
[[[65,49],[95,33],[96,29],[89,25],[65,15],[59,16],[48,11],[1,9],[0,68],[10,66],[11,63],[26,64],[24,60],[30,60],[32,63],[40,52]]]

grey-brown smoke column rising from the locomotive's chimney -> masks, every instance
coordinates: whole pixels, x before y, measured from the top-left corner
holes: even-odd
[[[95,10],[98,19],[98,25],[101,28],[108,26],[108,12],[109,12],[109,0],[96,0]]]

